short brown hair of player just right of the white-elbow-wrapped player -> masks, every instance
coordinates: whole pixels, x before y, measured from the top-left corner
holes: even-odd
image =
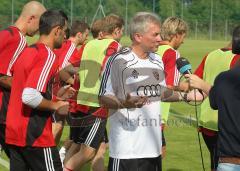
[[[78,32],[84,33],[87,29],[90,30],[90,27],[87,23],[79,20],[75,20],[72,23],[70,29],[70,36],[76,36]]]

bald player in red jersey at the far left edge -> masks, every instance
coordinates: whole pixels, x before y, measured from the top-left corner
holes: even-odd
[[[35,35],[40,16],[45,10],[41,3],[30,1],[24,5],[14,25],[0,31],[0,144],[8,157],[10,154],[5,145],[5,122],[12,82],[10,71],[27,46],[25,36]]]

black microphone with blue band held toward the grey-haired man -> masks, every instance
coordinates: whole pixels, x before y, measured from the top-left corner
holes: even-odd
[[[180,57],[176,61],[177,69],[182,74],[192,74],[192,66],[186,58]]]

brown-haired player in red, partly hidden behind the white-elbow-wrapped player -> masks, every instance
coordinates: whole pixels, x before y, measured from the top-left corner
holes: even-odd
[[[73,85],[74,79],[72,73],[65,73],[63,71],[64,68],[68,67],[70,65],[69,60],[78,60],[80,61],[80,52],[77,49],[78,46],[84,46],[88,34],[89,34],[89,26],[87,23],[76,20],[73,21],[72,27],[70,29],[70,37],[67,41],[65,41],[60,49],[57,49],[55,51],[56,55],[59,57],[59,69],[60,69],[60,77],[61,74],[64,74],[63,77],[67,78],[65,79],[66,84]],[[62,78],[62,77],[61,77]],[[60,117],[58,114],[54,114],[55,116],[55,123],[53,123],[53,135],[55,138],[56,143],[58,144],[62,135],[62,130],[64,127],[64,120],[65,117]],[[59,150],[61,161],[63,162],[66,150],[68,150],[72,144],[72,137],[71,137],[71,130],[70,130],[70,140],[67,139],[64,142],[63,147]]]

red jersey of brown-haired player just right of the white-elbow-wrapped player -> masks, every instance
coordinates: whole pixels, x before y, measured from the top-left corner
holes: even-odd
[[[59,69],[65,68],[69,64],[69,59],[78,57],[78,50],[74,43],[72,43],[70,40],[65,41],[62,44],[62,47],[60,49],[56,49],[55,54],[58,56],[59,61]]]

